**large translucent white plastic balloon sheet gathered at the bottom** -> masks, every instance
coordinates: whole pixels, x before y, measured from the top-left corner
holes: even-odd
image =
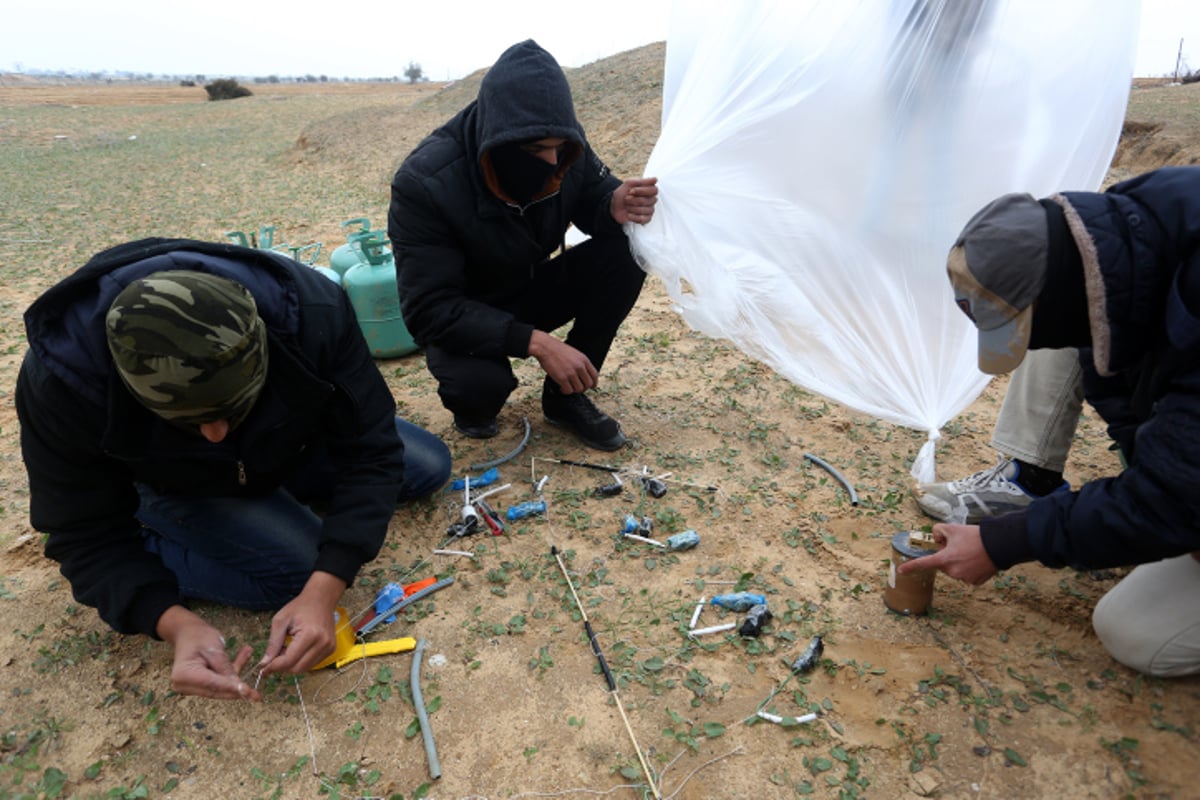
[[[1012,191],[1098,188],[1134,0],[677,0],[634,251],[686,323],[928,431],[984,389],[946,253]]]

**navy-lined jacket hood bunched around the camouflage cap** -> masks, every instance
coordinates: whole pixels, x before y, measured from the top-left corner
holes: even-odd
[[[132,281],[164,270],[196,270],[236,281],[254,296],[269,333],[294,335],[299,288],[283,255],[220,242],[144,239],[94,255],[50,287],[25,311],[30,349],[56,378],[88,401],[103,404],[114,374],[104,314]]]

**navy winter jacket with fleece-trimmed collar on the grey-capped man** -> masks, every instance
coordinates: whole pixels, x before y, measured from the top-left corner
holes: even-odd
[[[998,569],[1100,569],[1200,551],[1200,167],[1063,206],[1087,288],[1084,392],[1128,468],[982,524]]]

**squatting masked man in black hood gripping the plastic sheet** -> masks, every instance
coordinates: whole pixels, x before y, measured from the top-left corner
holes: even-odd
[[[496,435],[517,386],[509,359],[533,356],[548,421],[599,450],[625,444],[586,392],[641,293],[622,227],[649,222],[655,184],[610,173],[562,67],[533,40],[404,160],[388,215],[401,311],[460,433]],[[590,239],[565,249],[571,224]],[[551,336],[566,323],[565,341]]]

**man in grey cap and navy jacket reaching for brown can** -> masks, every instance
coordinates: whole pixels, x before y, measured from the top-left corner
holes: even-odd
[[[979,584],[998,570],[1139,565],[1093,614],[1122,663],[1200,673],[1200,167],[1108,192],[1008,194],[967,222],[947,269],[979,368],[1078,348],[1084,393],[1127,468],[978,525],[937,524],[920,564]]]

